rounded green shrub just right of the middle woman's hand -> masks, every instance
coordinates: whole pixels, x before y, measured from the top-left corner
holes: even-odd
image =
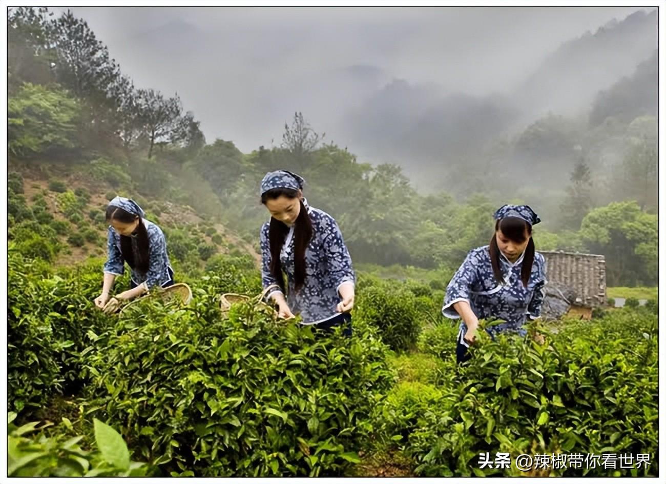
[[[416,343],[420,326],[416,298],[398,283],[367,287],[359,291],[354,315],[379,329],[382,341],[395,351],[404,351]]]

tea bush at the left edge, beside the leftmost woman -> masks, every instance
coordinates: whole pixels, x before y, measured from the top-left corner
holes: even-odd
[[[34,261],[9,251],[8,400],[9,408],[41,407],[50,397],[79,389],[87,375],[81,366],[88,331],[106,327],[93,307],[99,295],[99,261],[69,269],[67,278],[35,277]],[[31,275],[33,273],[33,275]]]

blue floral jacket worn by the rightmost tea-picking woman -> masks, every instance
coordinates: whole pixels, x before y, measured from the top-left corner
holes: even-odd
[[[523,287],[520,279],[523,255],[511,263],[500,253],[504,275],[504,284],[500,285],[493,273],[489,246],[470,251],[446,288],[442,307],[444,316],[459,319],[460,315],[453,305],[458,301],[468,301],[478,319],[493,317],[506,321],[490,327],[488,331],[491,335],[500,331],[515,331],[525,335],[523,325],[527,317],[537,319],[541,315],[546,267],[543,255],[535,252],[529,282],[527,287]],[[460,329],[466,331],[465,323],[460,323]]]

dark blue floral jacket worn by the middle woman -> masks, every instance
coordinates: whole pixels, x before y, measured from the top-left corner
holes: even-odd
[[[294,240],[293,227],[290,229],[280,262],[282,271],[287,275],[287,304],[294,315],[300,313],[304,324],[319,323],[338,314],[336,306],[340,303],[338,290],[344,283],[354,284],[356,277],[352,268],[352,258],[342,239],[342,233],[335,219],[328,213],[312,208],[304,199],[310,220],[312,221],[312,240],[305,251],[306,278],[298,293],[294,291]],[[264,288],[277,281],[270,273],[270,244],[268,243],[267,221],[261,227],[260,245],[262,252],[262,283]],[[266,295],[269,299],[273,289]]]

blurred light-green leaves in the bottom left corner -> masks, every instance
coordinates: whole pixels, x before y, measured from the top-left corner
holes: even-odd
[[[95,419],[95,441],[99,451],[85,451],[79,447],[83,436],[71,439],[57,433],[47,435],[45,428],[52,425],[39,422],[14,425],[16,413],[7,420],[7,474],[9,477],[93,477],[143,476],[147,467],[133,462],[123,437],[109,425]],[[72,424],[63,421],[63,425]]]

